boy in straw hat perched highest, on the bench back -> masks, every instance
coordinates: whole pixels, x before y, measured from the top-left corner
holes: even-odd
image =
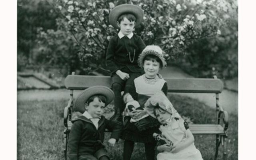
[[[106,53],[106,64],[111,71],[112,90],[115,94],[115,114],[111,119],[122,121],[124,107],[121,91],[128,91],[134,78],[142,74],[138,66],[138,56],[146,46],[142,38],[133,31],[141,24],[143,16],[143,10],[133,4],[116,6],[109,15],[110,24],[119,30],[110,39]]]

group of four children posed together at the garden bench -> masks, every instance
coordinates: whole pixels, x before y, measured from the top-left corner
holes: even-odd
[[[110,12],[110,24],[119,29],[110,39],[106,54],[114,92],[104,86],[94,86],[76,99],[74,106],[82,116],[72,121],[68,140],[70,160],[109,160],[102,144],[106,128],[112,132],[108,140],[110,146],[114,146],[120,136],[125,140],[124,160],[130,160],[134,142],[144,142],[147,160],[154,160],[153,133],[157,140],[166,142],[157,144],[158,160],[202,160],[188,124],[164,95],[167,83],[158,74],[159,69],[166,66],[161,48],[146,47],[140,36],[133,33],[143,16],[142,9],[132,4],[116,6]],[[124,129],[122,90],[127,103],[124,117],[128,118]],[[108,120],[102,114],[113,99],[115,114]],[[155,133],[159,133],[158,127],[162,134]]]

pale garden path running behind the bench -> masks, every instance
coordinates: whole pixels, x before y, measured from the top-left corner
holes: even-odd
[[[166,69],[160,71],[163,77],[169,78],[193,78],[192,76],[183,72],[177,67],[167,67]],[[226,81],[225,88],[220,94],[220,104],[223,106],[224,110],[238,114],[238,78]],[[75,91],[74,96],[78,95],[81,91]],[[197,93],[175,93],[183,96],[188,96],[191,98],[198,99],[204,102],[206,105],[215,108],[215,94],[197,94]],[[20,90],[18,91],[17,99],[19,100],[59,100],[68,99],[69,92],[66,89],[58,90]]]

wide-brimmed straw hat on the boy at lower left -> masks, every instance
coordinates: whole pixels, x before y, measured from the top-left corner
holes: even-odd
[[[75,101],[74,109],[80,113],[85,112],[84,105],[86,101],[94,95],[102,95],[106,98],[105,106],[107,106],[113,99],[114,99],[114,92],[105,86],[93,86],[90,88],[85,89],[83,92],[81,92]]]

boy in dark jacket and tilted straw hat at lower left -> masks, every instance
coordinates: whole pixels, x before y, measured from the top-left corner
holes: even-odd
[[[114,146],[122,131],[120,122],[107,120],[102,116],[105,106],[113,98],[113,91],[105,86],[90,87],[78,95],[74,105],[82,116],[72,121],[68,140],[70,160],[109,160],[102,144],[104,131],[107,128],[112,132],[108,140],[109,146]]]

